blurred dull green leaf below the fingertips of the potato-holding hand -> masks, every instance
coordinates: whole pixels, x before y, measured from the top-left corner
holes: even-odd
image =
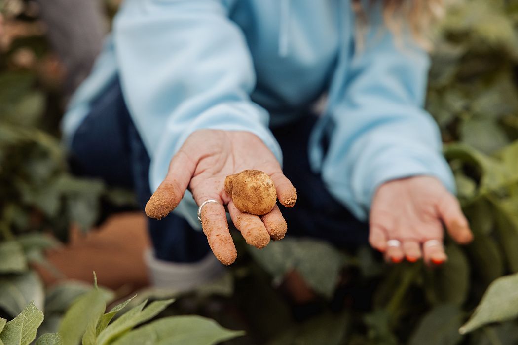
[[[284,238],[264,249],[248,249],[274,281],[280,282],[286,273],[296,270],[313,290],[327,297],[333,294],[344,266],[342,253],[316,239]]]

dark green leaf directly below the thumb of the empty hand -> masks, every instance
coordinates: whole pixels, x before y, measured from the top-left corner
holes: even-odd
[[[445,248],[448,261],[426,271],[425,292],[431,304],[461,305],[469,289],[469,265],[463,251],[456,245]]]

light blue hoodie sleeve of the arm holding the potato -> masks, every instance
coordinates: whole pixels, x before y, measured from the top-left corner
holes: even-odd
[[[127,0],[114,20],[121,85],[151,157],[152,190],[198,129],[252,132],[282,159],[268,113],[250,100],[252,58],[228,7],[221,0]]]

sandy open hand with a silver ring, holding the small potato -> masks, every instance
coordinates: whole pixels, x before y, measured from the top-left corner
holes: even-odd
[[[146,205],[146,214],[157,219],[167,216],[187,188],[198,205],[208,199],[218,201],[203,207],[202,226],[215,257],[229,265],[236,260],[237,252],[228,232],[224,205],[247,243],[257,248],[266,246],[270,237],[283,238],[287,229],[277,205],[262,217],[243,214],[234,206],[224,189],[225,177],[246,169],[270,175],[280,203],[294,205],[295,188],[261,139],[250,132],[204,129],[192,133],[171,159],[167,176]]]

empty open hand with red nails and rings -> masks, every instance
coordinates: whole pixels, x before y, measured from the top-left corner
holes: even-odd
[[[410,262],[423,257],[427,264],[441,264],[447,260],[442,246],[443,224],[457,243],[472,240],[457,199],[437,179],[397,179],[376,191],[370,211],[369,242],[395,263],[405,257]],[[400,246],[387,245],[391,239],[397,239]]]

